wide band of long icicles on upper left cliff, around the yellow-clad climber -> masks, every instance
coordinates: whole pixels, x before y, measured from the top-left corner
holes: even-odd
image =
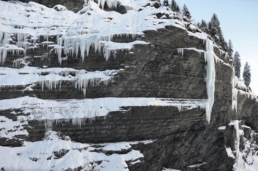
[[[116,1],[114,1],[116,2]],[[100,3],[100,1],[99,1]],[[17,26],[14,26],[17,27]],[[78,57],[78,53],[80,50],[80,57],[84,61],[85,55],[89,55],[90,47],[94,48],[95,53],[98,52],[100,53],[101,47],[103,47],[103,55],[106,61],[110,58],[110,53],[113,52],[113,55],[115,57],[115,53],[118,49],[110,49],[108,46],[105,45],[105,42],[112,41],[112,38],[115,36],[120,36],[120,37],[129,37],[132,36],[134,39],[138,34],[116,34],[116,35],[110,35],[110,36],[101,36],[100,38],[97,36],[98,30],[96,28],[91,28],[87,34],[84,32],[79,33],[79,35],[56,35],[56,40],[57,44],[54,44],[54,42],[48,41],[49,37],[52,37],[51,35],[44,35],[43,38],[44,42],[40,43],[43,47],[46,45],[47,47],[53,48],[50,50],[52,52],[53,50],[55,51],[55,54],[58,55],[58,61],[61,65],[62,61],[67,60],[67,57],[62,58],[62,50],[67,52],[68,56],[75,55],[76,58]],[[4,35],[4,37],[3,37]],[[17,37],[17,42],[16,45],[10,44],[10,41],[12,41],[11,36],[13,38]],[[38,48],[37,46],[39,45],[36,43],[36,41],[39,39],[39,37],[36,38],[30,38],[27,34],[25,33],[6,33],[3,31],[0,31],[0,41],[3,42],[2,44],[4,46],[0,47],[0,62],[4,63],[6,59],[7,52],[12,52],[14,55],[15,53],[18,53],[20,51],[24,52],[24,55],[26,54],[26,49],[33,49]],[[30,38],[30,39],[28,39]],[[16,39],[16,38],[15,38]],[[28,42],[28,40],[30,42]],[[129,50],[129,49],[126,49]],[[123,51],[123,49],[122,49]]]

